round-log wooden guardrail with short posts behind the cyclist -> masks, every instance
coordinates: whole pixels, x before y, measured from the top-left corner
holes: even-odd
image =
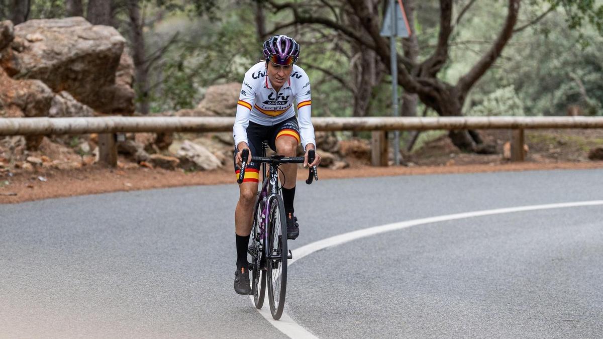
[[[235,118],[177,116],[104,116],[95,118],[0,118],[0,136],[99,134],[101,159],[117,162],[116,133],[232,131]],[[373,131],[373,164],[387,165],[387,131],[511,129],[513,160],[522,161],[526,128],[603,128],[603,117],[587,116],[455,116],[312,118],[317,131]]]

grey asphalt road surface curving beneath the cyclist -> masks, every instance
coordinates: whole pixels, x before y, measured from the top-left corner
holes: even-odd
[[[601,200],[602,176],[298,182],[301,235],[289,246],[417,218]],[[237,196],[220,185],[0,205],[0,337],[282,338],[232,288]],[[514,212],[329,247],[290,265],[285,311],[321,338],[603,337],[601,220],[602,206]]]

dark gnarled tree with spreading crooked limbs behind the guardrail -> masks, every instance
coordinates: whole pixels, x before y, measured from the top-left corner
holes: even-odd
[[[290,10],[293,21],[297,24],[317,24],[339,31],[355,42],[371,49],[381,59],[383,65],[390,69],[390,46],[387,38],[380,36],[380,16],[374,15],[372,1],[344,0],[344,5],[352,8],[355,14],[356,27],[344,25],[333,17],[318,16],[310,11],[300,10],[300,5],[295,2],[280,2],[269,0],[276,11]],[[323,1],[324,2],[324,1]],[[431,107],[441,116],[461,116],[467,94],[472,86],[496,62],[502,49],[513,36],[513,29],[517,24],[520,0],[508,0],[506,19],[490,49],[461,77],[456,84],[440,80],[437,75],[446,64],[449,57],[450,36],[454,29],[453,0],[440,0],[440,33],[434,52],[422,62],[415,58],[398,56],[398,83],[408,93],[416,93],[420,100]],[[472,2],[469,2],[469,5]],[[415,60],[413,60],[415,59]],[[476,151],[482,144],[478,133],[469,133],[466,130],[450,131],[452,142],[462,150]]]

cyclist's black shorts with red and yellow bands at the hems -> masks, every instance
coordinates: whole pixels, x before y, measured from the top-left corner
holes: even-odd
[[[262,156],[262,142],[268,141],[268,146],[276,152],[276,139],[283,136],[295,138],[297,143],[300,143],[300,127],[297,124],[297,118],[292,116],[279,124],[265,126],[249,122],[247,126],[247,141],[251,156]],[[236,165],[236,153],[238,152],[235,145],[235,154],[233,161],[235,162],[236,179],[239,179],[239,166]],[[245,168],[245,179],[243,182],[259,182],[260,163],[250,162]]]

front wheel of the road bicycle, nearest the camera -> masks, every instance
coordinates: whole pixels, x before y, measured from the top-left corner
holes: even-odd
[[[268,241],[265,251],[268,266],[268,300],[272,317],[279,320],[283,314],[287,290],[287,224],[283,198],[273,195],[269,201]]]

